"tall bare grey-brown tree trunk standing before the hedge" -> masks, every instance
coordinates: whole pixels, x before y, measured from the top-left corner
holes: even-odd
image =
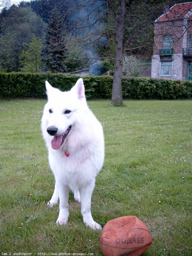
[[[111,104],[119,106],[123,103],[121,80],[123,70],[123,29],[125,21],[126,0],[120,1],[119,14],[117,16],[117,34],[116,34],[116,56],[115,56],[115,72],[113,76],[113,88]]]

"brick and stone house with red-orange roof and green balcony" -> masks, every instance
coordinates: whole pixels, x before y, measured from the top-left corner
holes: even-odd
[[[154,25],[151,77],[192,81],[192,2],[164,4]]]

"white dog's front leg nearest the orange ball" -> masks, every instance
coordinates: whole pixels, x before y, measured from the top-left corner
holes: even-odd
[[[95,181],[91,181],[86,187],[82,187],[81,194],[81,214],[86,226],[91,227],[93,230],[102,229],[100,224],[95,222],[91,215],[91,196],[95,186]]]

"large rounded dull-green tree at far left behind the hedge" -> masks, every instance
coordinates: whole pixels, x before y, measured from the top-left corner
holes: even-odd
[[[46,25],[31,8],[15,7],[7,22],[0,23],[0,71],[19,71],[25,44],[32,41],[33,35],[44,39]]]

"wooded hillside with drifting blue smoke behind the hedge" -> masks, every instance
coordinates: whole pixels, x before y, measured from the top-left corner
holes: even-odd
[[[177,1],[182,3],[183,1]],[[175,1],[169,1],[170,7]],[[164,1],[126,1],[126,56],[150,62]],[[0,72],[113,74],[119,1],[0,0]],[[132,59],[132,62],[133,62]]]

